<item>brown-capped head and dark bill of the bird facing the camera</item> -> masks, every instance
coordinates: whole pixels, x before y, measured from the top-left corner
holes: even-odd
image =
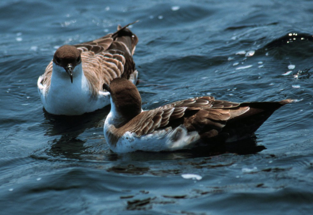
[[[81,63],[80,51],[71,45],[61,46],[55,51],[52,61],[65,69],[73,83],[73,70]]]

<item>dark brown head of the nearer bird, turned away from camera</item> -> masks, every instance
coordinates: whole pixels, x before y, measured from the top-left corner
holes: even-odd
[[[130,120],[141,113],[141,97],[136,86],[126,78],[115,78],[110,86],[103,85],[103,88],[111,94],[111,106],[115,106],[118,114],[126,120]],[[112,108],[112,107],[111,107]]]

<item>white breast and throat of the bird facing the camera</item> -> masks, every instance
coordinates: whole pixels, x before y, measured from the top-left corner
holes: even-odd
[[[89,82],[82,71],[81,64],[74,68],[73,74],[73,83],[71,83],[64,68],[54,64],[50,88],[48,90],[40,89],[38,83],[40,98],[44,108],[49,113],[81,115],[110,104],[110,96],[107,92],[100,92],[94,97],[91,96]]]

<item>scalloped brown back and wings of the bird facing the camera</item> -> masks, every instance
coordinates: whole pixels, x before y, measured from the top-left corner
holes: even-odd
[[[127,27],[118,26],[118,31],[99,39],[74,45],[81,52],[84,74],[92,85],[92,95],[102,89],[104,83],[109,84],[113,78],[129,79],[136,71],[132,54],[135,51],[138,38]],[[41,83],[49,89],[52,74],[52,61],[47,66]]]

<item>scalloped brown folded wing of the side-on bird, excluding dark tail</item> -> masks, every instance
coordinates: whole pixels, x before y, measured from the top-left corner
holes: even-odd
[[[186,99],[140,113],[126,123],[121,132],[130,131],[137,135],[144,135],[156,129],[175,128],[181,124],[185,125],[188,131],[199,133],[204,133],[205,129],[205,132],[213,128],[221,130],[227,120],[249,109],[249,107],[236,108],[239,105],[239,103],[216,101],[213,97]]]

